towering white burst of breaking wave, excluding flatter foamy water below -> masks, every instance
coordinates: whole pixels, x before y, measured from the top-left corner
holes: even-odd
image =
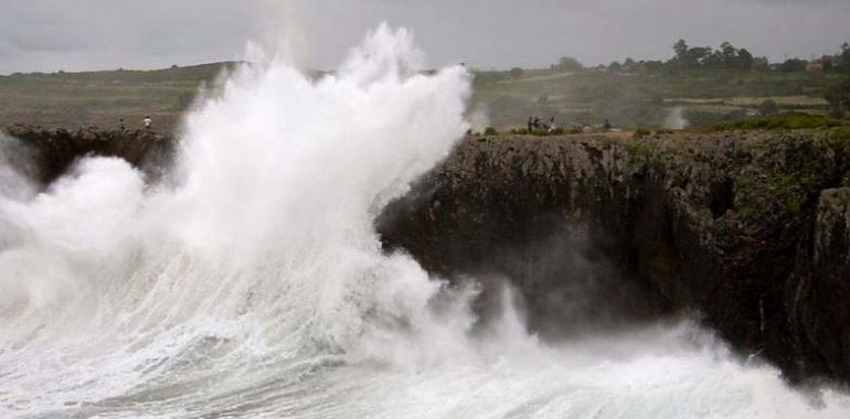
[[[422,354],[442,358],[460,344],[429,324],[443,283],[384,256],[372,226],[467,129],[466,71],[426,76],[421,57],[406,31],[381,26],[318,80],[283,61],[244,66],[188,116],[176,186],[89,158],[32,200],[4,197],[0,339],[18,347],[6,373],[35,386],[59,369],[68,382],[38,393],[61,394],[85,376],[76,363],[96,362],[95,393],[109,397],[169,369],[140,365],[211,335],[281,358],[376,356],[395,351],[395,334],[413,340],[405,347],[439,337],[447,344]],[[31,357],[53,366],[28,370]]]

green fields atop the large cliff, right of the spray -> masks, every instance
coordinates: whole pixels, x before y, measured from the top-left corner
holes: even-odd
[[[501,129],[523,126],[529,116],[555,117],[562,126],[607,118],[623,128],[661,127],[676,108],[693,125],[711,125],[754,115],[767,99],[779,111],[825,114],[824,93],[840,80],[822,72],[490,72],[477,77],[474,101]]]

